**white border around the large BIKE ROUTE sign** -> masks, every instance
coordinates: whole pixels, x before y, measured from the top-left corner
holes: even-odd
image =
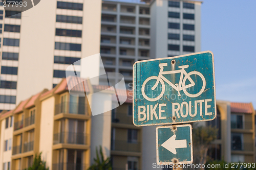
[[[148,62],[148,61],[157,61],[157,60],[165,60],[165,59],[170,59],[170,57],[165,57],[165,58],[156,58],[156,59],[150,59],[150,60],[142,60],[142,61],[137,61],[133,64],[133,125],[136,127],[141,127],[141,126],[155,126],[155,125],[175,125],[175,124],[185,124],[185,123],[193,123],[193,122],[205,122],[205,121],[210,121],[214,120],[217,116],[217,102],[216,102],[216,85],[215,85],[215,65],[214,65],[214,54],[211,51],[204,51],[204,52],[198,52],[198,53],[190,53],[190,54],[185,54],[181,56],[175,56],[172,57],[172,59],[180,58],[180,57],[186,57],[186,56],[193,56],[197,54],[203,54],[203,53],[210,53],[212,57],[212,74],[214,75],[214,102],[215,102],[215,117],[212,119],[203,119],[203,120],[190,120],[186,122],[168,122],[168,123],[159,123],[159,124],[142,124],[142,125],[136,125],[134,123],[134,77],[135,77],[135,65],[137,63],[143,63],[143,62]]]

